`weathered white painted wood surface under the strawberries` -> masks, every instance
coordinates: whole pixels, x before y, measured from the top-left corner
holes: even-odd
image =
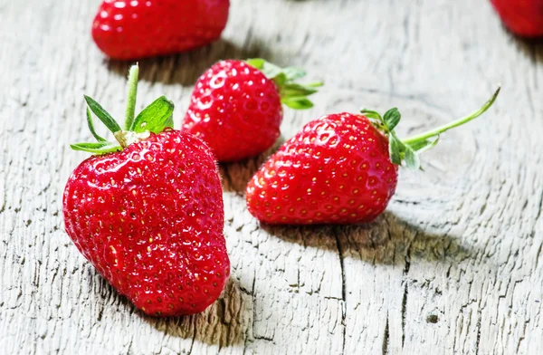
[[[0,0],[0,353],[537,354],[543,351],[543,46],[488,1],[234,0],[224,39],[141,62],[139,104],[164,93],[179,125],[221,58],[304,66],[327,87],[286,111],[404,114],[405,133],[496,106],[401,171],[384,216],[262,227],[243,188],[263,158],[221,168],[232,279],[201,315],[158,320],[119,297],[62,226],[62,189],[90,139],[83,93],[123,112],[129,63],[90,40],[99,0]]]

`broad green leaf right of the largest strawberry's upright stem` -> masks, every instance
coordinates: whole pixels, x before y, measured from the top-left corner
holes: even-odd
[[[161,96],[138,114],[130,130],[160,133],[167,127],[174,127],[173,113],[174,103]]]

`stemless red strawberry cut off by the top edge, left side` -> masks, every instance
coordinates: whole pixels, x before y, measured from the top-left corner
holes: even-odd
[[[92,37],[114,59],[179,53],[217,40],[230,0],[105,0]]]

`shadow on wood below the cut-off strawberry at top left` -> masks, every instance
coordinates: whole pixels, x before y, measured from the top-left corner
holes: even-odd
[[[148,82],[179,83],[192,86],[200,75],[215,62],[222,59],[268,58],[268,47],[258,40],[252,40],[248,48],[220,39],[205,47],[186,53],[178,53],[157,58],[143,59],[139,62],[139,78]],[[129,66],[136,61],[106,60],[108,69],[126,76]]]

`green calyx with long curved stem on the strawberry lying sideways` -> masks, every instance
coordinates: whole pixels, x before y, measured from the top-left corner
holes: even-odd
[[[395,127],[400,122],[402,115],[398,109],[394,108],[387,110],[384,116],[381,116],[374,110],[361,110],[360,112],[371,120],[372,124],[381,130],[388,138],[388,149],[390,153],[390,160],[396,165],[402,165],[405,161],[407,168],[419,169],[421,168],[421,160],[419,155],[428,149],[435,147],[440,139],[440,135],[455,127],[462,126],[471,120],[475,120],[481,116],[486,110],[489,110],[496,101],[498,94],[500,93],[500,87],[494,92],[491,99],[482,105],[481,109],[473,111],[469,115],[462,117],[458,120],[453,120],[441,127],[433,130],[428,130],[424,133],[417,134],[414,137],[407,139],[399,139],[395,134]]]

